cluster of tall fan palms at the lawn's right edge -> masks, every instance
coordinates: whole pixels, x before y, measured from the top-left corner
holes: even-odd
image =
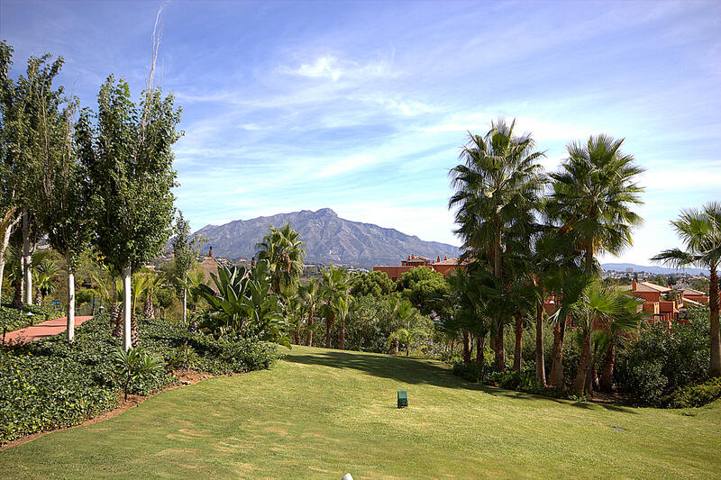
[[[563,342],[571,325],[582,339],[574,386],[592,388],[593,352],[605,347],[613,356],[616,332],[638,322],[625,296],[598,285],[598,255],[631,245],[631,232],[641,222],[633,208],[641,204],[636,178],[643,169],[622,144],[607,135],[572,142],[560,169],[546,173],[544,153],[530,133],[516,133],[515,121],[492,122],[485,135],[469,134],[461,164],[450,172],[455,191],[449,207],[455,209],[462,259],[470,264],[451,280],[455,303],[447,319],[452,330],[463,332],[468,361],[470,336],[482,355],[488,335],[496,367],[506,369],[504,331],[515,324],[513,367],[520,370],[523,325],[533,318],[536,376],[543,385],[564,387]],[[546,376],[541,340],[548,298],[559,308],[551,318],[553,360]],[[595,340],[594,331],[603,332],[604,340]]]

